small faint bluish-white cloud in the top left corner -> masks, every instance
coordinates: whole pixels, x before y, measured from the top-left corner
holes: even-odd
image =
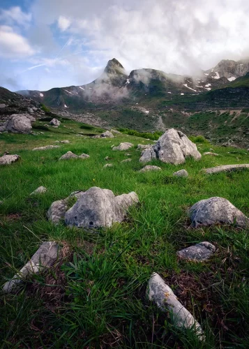
[[[19,6],[10,7],[8,10],[0,10],[0,20],[5,24],[19,24],[27,27],[31,22],[31,13],[24,13]]]

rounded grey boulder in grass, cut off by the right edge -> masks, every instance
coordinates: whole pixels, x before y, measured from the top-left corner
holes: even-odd
[[[239,228],[249,226],[249,218],[224,198],[213,197],[198,201],[190,208],[189,216],[194,228],[217,224],[234,224]]]

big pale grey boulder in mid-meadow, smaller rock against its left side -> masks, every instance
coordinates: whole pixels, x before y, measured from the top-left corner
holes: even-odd
[[[109,228],[113,223],[121,223],[128,208],[137,202],[139,199],[134,192],[115,196],[108,189],[94,186],[66,211],[65,223],[77,228]]]

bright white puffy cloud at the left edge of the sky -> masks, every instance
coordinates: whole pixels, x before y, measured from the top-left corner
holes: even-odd
[[[17,34],[11,27],[0,26],[0,56],[4,58],[20,59],[29,57],[35,50],[26,38]]]

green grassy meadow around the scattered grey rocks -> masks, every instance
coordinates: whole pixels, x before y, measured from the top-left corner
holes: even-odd
[[[0,284],[23,267],[41,242],[61,245],[54,267],[31,276],[16,294],[0,291],[0,348],[248,348],[249,231],[190,228],[188,209],[198,200],[221,196],[249,216],[248,170],[209,176],[202,172],[249,163],[249,153],[201,142],[201,153],[213,149],[220,156],[188,159],[178,166],[153,161],[162,171],[140,173],[136,146],[152,140],[126,134],[92,139],[87,134],[99,134],[99,128],[62,121],[49,131],[34,129],[38,135],[0,135],[0,153],[7,150],[22,158],[0,168]],[[112,151],[120,142],[134,147]],[[31,151],[47,144],[61,147]],[[59,161],[66,151],[90,158]],[[132,161],[121,163],[128,157]],[[103,168],[106,163],[113,167]],[[188,178],[172,177],[182,168]],[[31,197],[38,186],[47,192]],[[47,221],[52,202],[91,186],[115,195],[135,191],[140,203],[126,221],[107,230],[89,232]],[[203,241],[218,248],[208,262],[176,258],[179,249]],[[165,279],[202,324],[204,342],[174,327],[169,315],[149,302],[146,285],[152,272]]]

